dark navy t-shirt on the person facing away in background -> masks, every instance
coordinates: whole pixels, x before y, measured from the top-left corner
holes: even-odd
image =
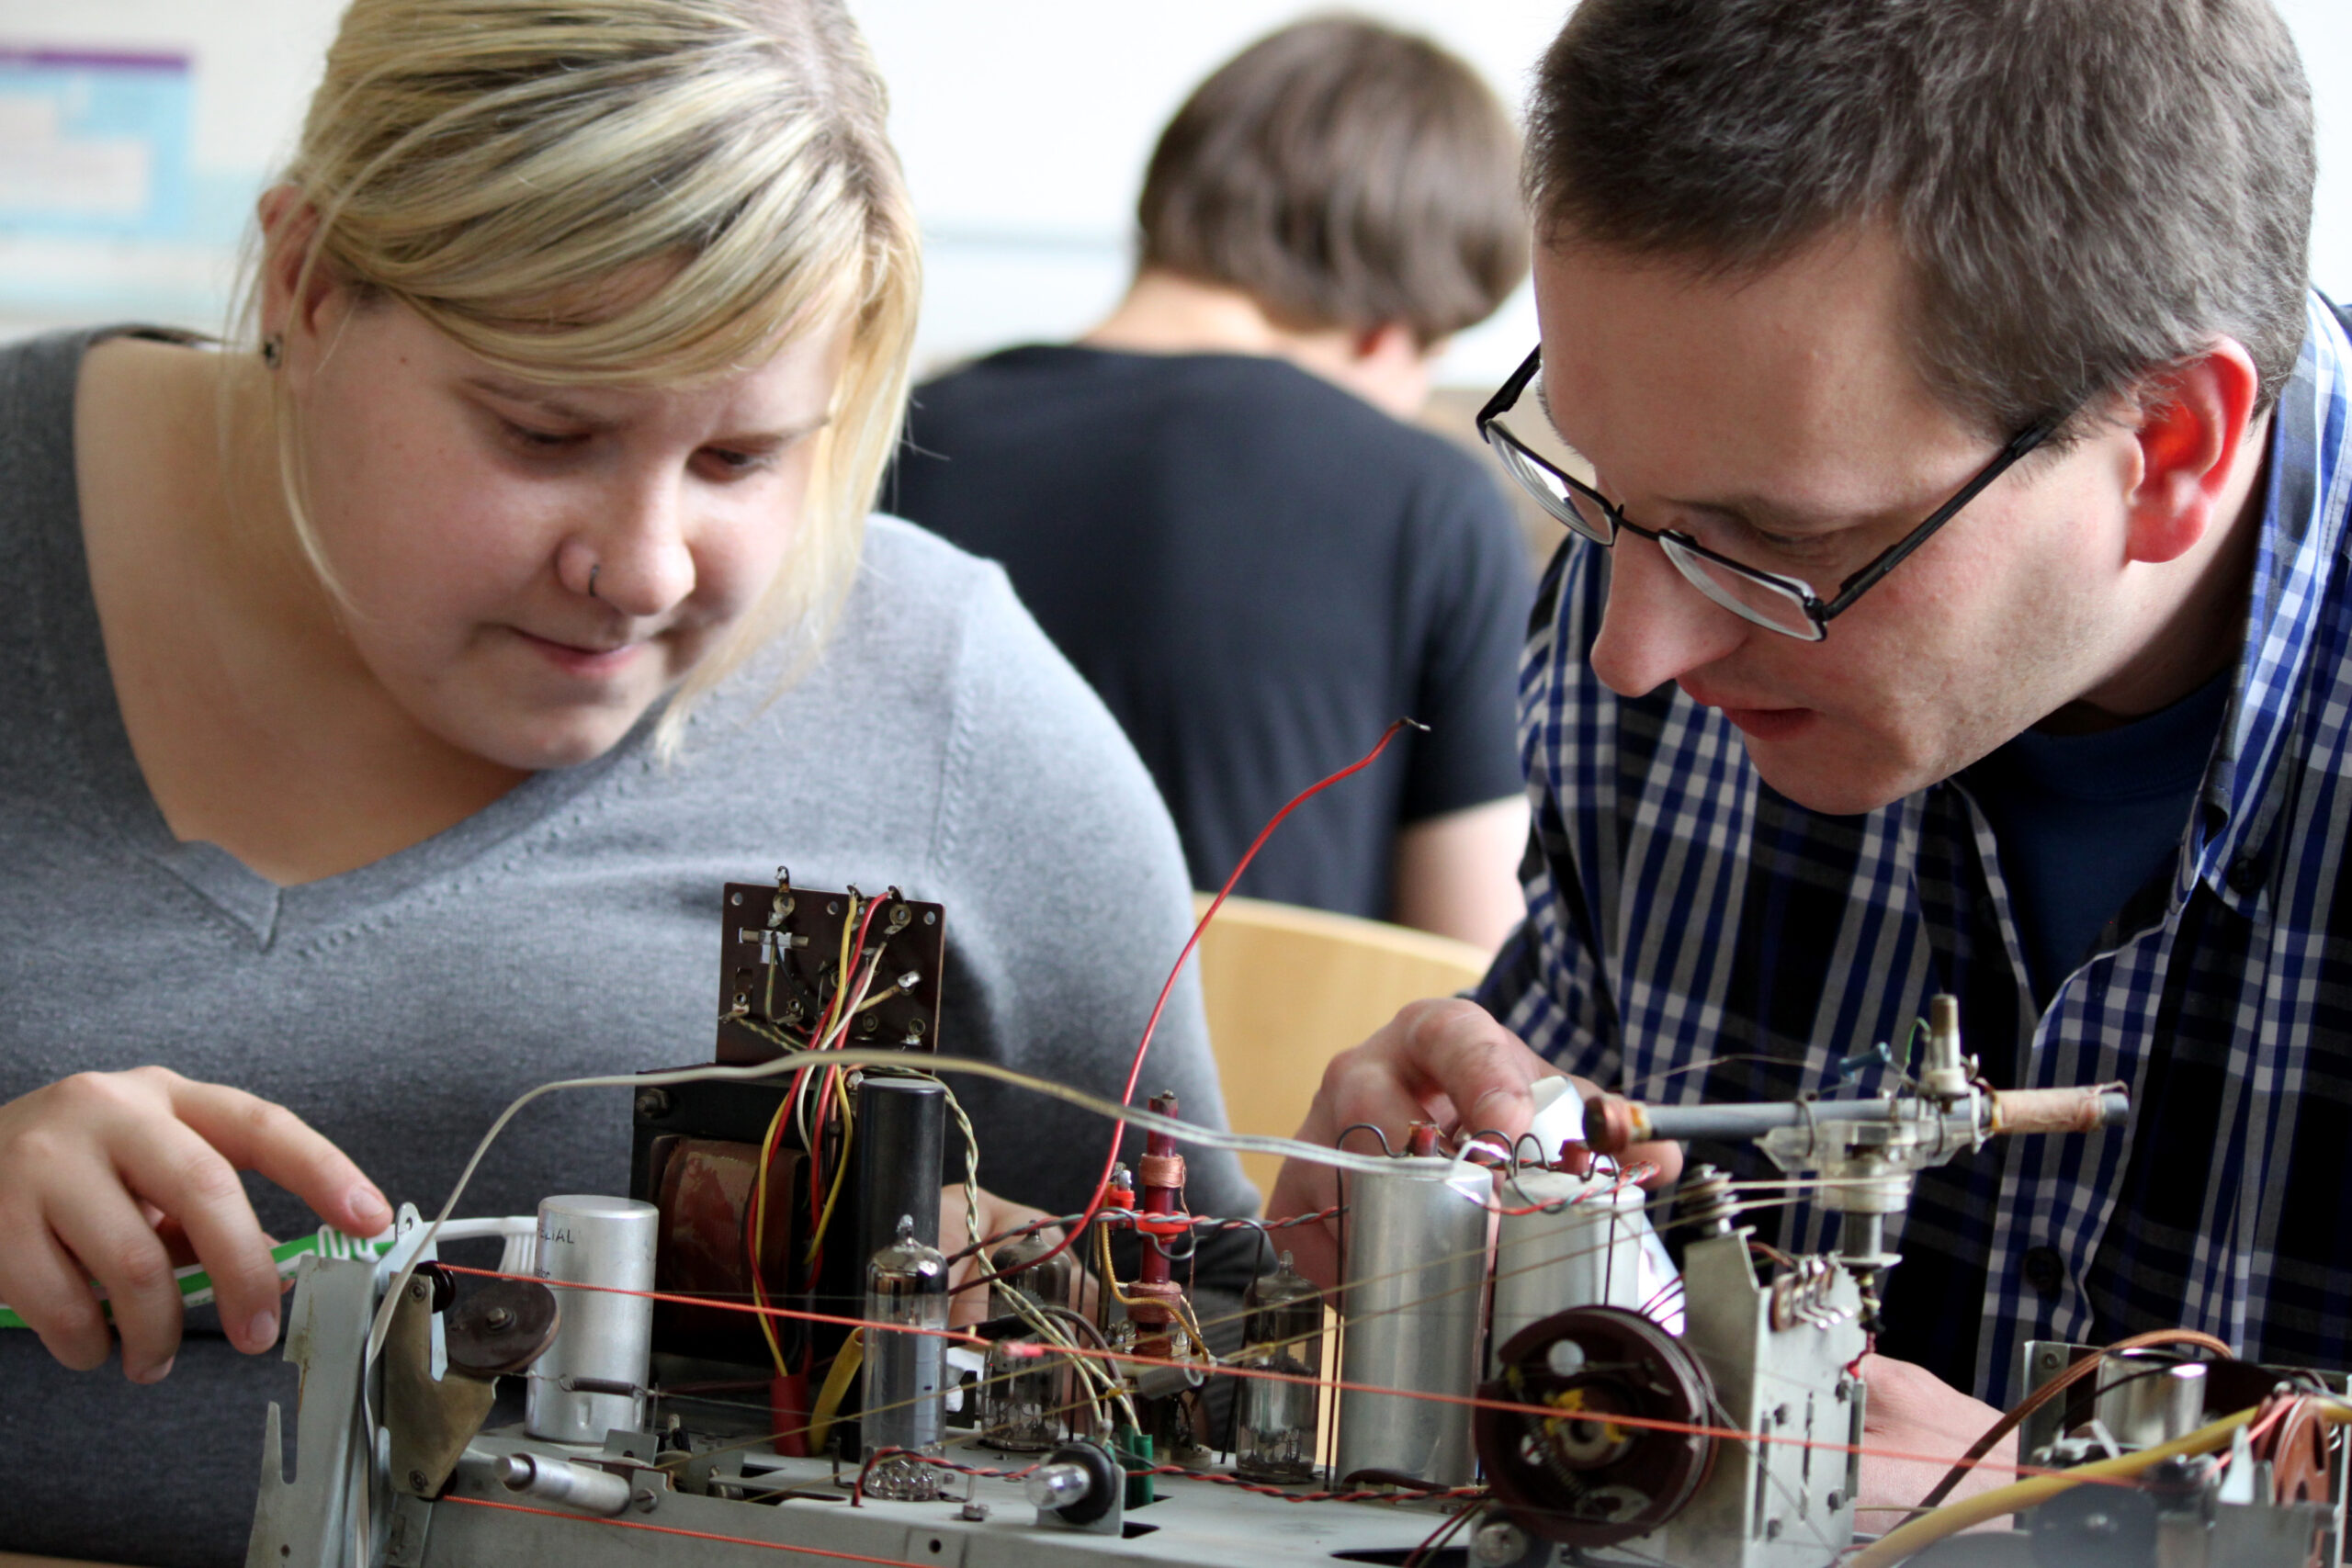
[[[915,393],[889,510],[1004,562],[1160,783],[1195,886],[1390,914],[1402,825],[1524,792],[1534,581],[1479,458],[1284,360],[1011,348]]]

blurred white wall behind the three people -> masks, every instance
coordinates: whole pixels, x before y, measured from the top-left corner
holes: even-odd
[[[1562,0],[1359,0],[1432,33],[1517,103]],[[2352,292],[2352,7],[2279,0],[2319,94],[2312,275]],[[219,324],[235,237],[285,150],[336,0],[0,0],[0,49],[136,47],[193,59],[186,176],[169,240],[12,230],[0,200],[0,331],[56,320]],[[1190,0],[851,0],[891,82],[894,136],[929,237],[922,355],[1068,336],[1127,275],[1129,209],[1162,120],[1216,61],[1322,5]],[[7,120],[0,118],[0,127]],[[0,190],[9,148],[0,143]],[[1524,292],[1465,334],[1444,378],[1501,378],[1534,341]]]

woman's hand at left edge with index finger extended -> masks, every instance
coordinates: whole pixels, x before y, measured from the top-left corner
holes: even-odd
[[[78,1072],[0,1105],[0,1300],[75,1371],[106,1361],[106,1288],[122,1373],[155,1382],[179,1352],[174,1246],[212,1274],[228,1340],[278,1342],[278,1265],[238,1171],[259,1171],[329,1225],[393,1220],[350,1159],[282,1105],[167,1067]]]

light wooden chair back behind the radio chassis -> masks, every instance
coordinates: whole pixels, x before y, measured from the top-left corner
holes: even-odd
[[[1209,907],[1209,896],[1195,896]],[[1228,898],[1200,938],[1209,1044],[1225,1117],[1242,1133],[1289,1138],[1324,1065],[1421,997],[1449,997],[1486,973],[1470,943],[1352,914]],[[1282,1161],[1242,1154],[1258,1194]]]

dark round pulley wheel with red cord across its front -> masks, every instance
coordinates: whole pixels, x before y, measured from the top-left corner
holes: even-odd
[[[1477,1458],[1496,1500],[1526,1533],[1566,1547],[1649,1535],[1691,1502],[1715,1467],[1715,1439],[1639,1422],[1712,1425],[1705,1368],[1665,1328],[1623,1307],[1573,1307],[1503,1345],[1479,1406]]]

